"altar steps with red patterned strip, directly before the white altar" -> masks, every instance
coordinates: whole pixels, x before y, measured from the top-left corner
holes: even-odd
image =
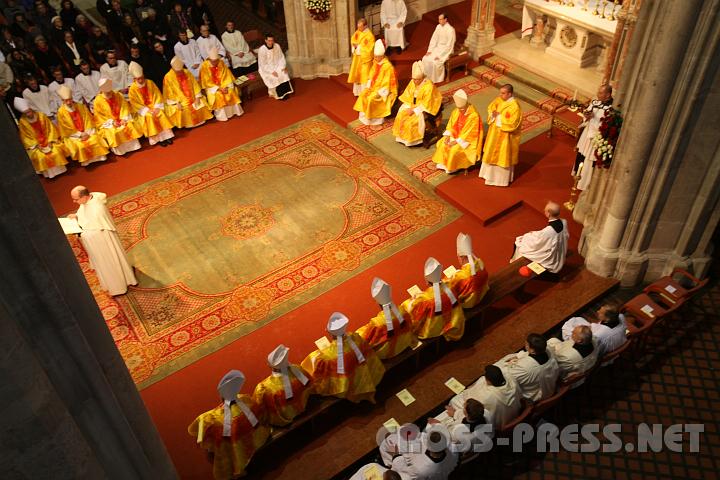
[[[568,88],[494,54],[483,57],[472,74],[496,87],[511,83],[515,96],[551,114],[563,109],[573,97]],[[585,103],[589,98],[578,95],[577,100]]]

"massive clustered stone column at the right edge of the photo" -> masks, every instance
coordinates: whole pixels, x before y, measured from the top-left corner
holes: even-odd
[[[581,253],[624,285],[676,266],[702,275],[720,216],[720,3],[645,0],[622,84],[614,163],[591,189]],[[604,180],[602,177],[607,177]]]

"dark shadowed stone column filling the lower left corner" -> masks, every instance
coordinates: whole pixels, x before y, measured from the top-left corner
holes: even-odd
[[[17,129],[0,110],[0,472],[177,478]]]

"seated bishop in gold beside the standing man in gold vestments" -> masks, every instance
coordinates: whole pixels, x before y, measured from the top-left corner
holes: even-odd
[[[433,162],[447,173],[470,168],[477,163],[482,146],[482,122],[467,94],[460,89],[453,95],[455,110],[445,132],[435,146]]]

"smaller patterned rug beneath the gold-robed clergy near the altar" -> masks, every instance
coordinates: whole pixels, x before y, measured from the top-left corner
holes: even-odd
[[[447,123],[450,114],[455,109],[452,96],[459,89],[465,90],[468,94],[468,100],[475,106],[483,120],[487,120],[487,106],[498,95],[496,87],[473,76],[455,80],[439,88],[443,96],[444,123]],[[547,132],[552,119],[550,114],[523,100],[518,101],[523,112],[521,142],[527,142],[541,133]],[[438,170],[436,164],[432,161],[433,153],[435,153],[434,145],[426,150],[422,146],[407,148],[395,141],[392,134],[394,120],[394,118],[386,120],[382,125],[363,125],[358,120],[355,120],[348,127],[358,136],[405,165],[415,178],[435,186],[451,179],[451,175]],[[487,134],[487,125],[484,126],[484,129],[485,134]],[[472,173],[477,175],[476,172]]]

